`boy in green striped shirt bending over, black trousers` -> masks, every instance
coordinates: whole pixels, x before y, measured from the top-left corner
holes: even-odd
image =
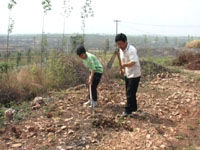
[[[86,52],[84,46],[80,46],[77,48],[77,55],[82,59],[84,66],[86,68],[89,68],[90,70],[88,84],[89,86],[91,86],[92,100],[88,100],[88,102],[84,103],[84,105],[96,107],[98,99],[97,88],[103,74],[103,66],[95,55]]]

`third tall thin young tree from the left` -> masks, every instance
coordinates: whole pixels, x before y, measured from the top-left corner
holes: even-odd
[[[67,37],[65,36],[66,19],[71,15],[73,7],[70,5],[70,0],[63,0],[63,36],[62,36],[62,51],[64,51],[67,45]]]

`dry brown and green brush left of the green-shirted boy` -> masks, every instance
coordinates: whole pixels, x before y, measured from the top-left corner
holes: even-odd
[[[0,104],[31,100],[52,89],[69,88],[86,83],[88,72],[75,56],[52,52],[47,64],[34,64],[10,70],[0,79]]]

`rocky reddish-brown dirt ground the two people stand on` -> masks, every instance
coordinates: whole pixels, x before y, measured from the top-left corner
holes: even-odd
[[[99,107],[84,108],[87,88],[52,93],[52,101],[17,125],[0,129],[0,149],[200,149],[200,83],[173,74],[140,85],[143,113],[121,118],[123,81],[99,87]]]

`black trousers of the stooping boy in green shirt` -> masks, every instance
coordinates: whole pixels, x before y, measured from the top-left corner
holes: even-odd
[[[94,101],[97,101],[98,97],[97,97],[97,88],[98,88],[98,85],[101,81],[101,76],[102,76],[102,73],[97,73],[95,72],[94,73],[94,76],[93,76],[93,79],[92,79],[92,99]]]

